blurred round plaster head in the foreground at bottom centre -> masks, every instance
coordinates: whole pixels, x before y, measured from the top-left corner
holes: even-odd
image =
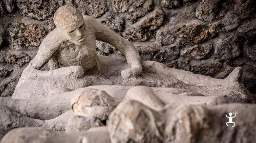
[[[164,117],[135,100],[125,100],[112,111],[108,127],[112,142],[163,142]]]

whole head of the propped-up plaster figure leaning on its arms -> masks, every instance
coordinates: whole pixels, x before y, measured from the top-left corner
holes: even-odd
[[[61,33],[71,42],[81,45],[84,43],[84,20],[81,12],[65,5],[55,12],[53,21]]]

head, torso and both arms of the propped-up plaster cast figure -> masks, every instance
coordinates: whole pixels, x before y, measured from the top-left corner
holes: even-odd
[[[99,71],[96,40],[110,43],[125,55],[131,68],[121,72],[123,78],[136,76],[142,72],[140,56],[133,44],[94,18],[82,16],[78,9],[65,5],[55,12],[53,20],[56,28],[41,42],[35,58],[24,70],[24,79],[30,75],[31,69],[40,70],[48,62],[49,68],[56,70],[52,71],[56,73],[55,76],[63,74],[65,71],[61,67],[67,66],[71,67],[65,69],[70,71],[66,74],[78,77],[89,70]],[[65,46],[68,41],[77,46]],[[47,73],[45,74],[47,76]]]

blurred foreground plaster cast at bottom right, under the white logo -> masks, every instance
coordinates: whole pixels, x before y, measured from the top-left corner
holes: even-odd
[[[225,115],[237,111],[236,126],[227,127]],[[108,122],[113,143],[254,142],[256,105],[230,103],[216,106],[169,106],[156,111],[127,100],[111,113]]]

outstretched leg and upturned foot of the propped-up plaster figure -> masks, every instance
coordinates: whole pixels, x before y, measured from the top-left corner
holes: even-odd
[[[141,84],[141,82],[144,81],[150,86],[159,84],[159,86],[178,87],[198,92],[206,96],[240,94],[243,98],[252,98],[240,81],[242,77],[242,70],[240,67],[235,68],[224,79],[216,79],[184,70],[168,68],[164,64],[154,61],[143,62],[143,70],[147,72],[145,73],[145,77],[150,78],[150,74],[156,76],[155,81],[151,81],[154,84],[145,82],[143,78],[138,80],[133,79],[134,81],[131,80],[126,82],[129,84]],[[161,80],[158,80],[157,77]]]

